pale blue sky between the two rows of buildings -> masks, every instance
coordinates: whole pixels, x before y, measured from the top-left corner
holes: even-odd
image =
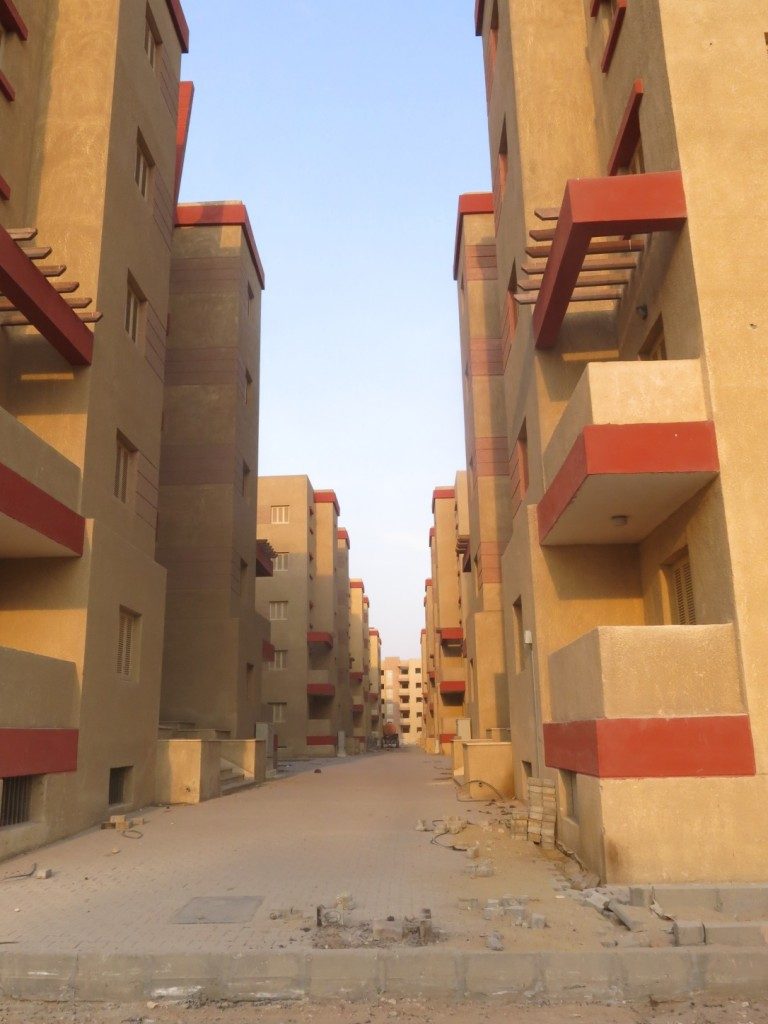
[[[184,0],[182,201],[266,272],[259,473],[333,487],[385,654],[416,656],[434,486],[464,467],[457,198],[488,186],[474,0]]]

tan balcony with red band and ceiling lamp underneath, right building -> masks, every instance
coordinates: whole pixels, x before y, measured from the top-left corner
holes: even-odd
[[[591,362],[544,455],[542,544],[637,544],[718,473],[697,360]]]

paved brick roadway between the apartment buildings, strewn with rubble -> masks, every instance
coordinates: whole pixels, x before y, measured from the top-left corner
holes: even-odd
[[[319,773],[314,769],[319,768]],[[0,949],[68,953],[254,952],[312,941],[317,904],[341,893],[354,918],[432,909],[450,943],[482,948],[492,927],[458,896],[525,894],[549,928],[511,929],[507,948],[601,948],[614,929],[555,892],[557,860],[501,835],[484,804],[459,803],[444,759],[420,750],[295,765],[263,786],[193,807],[151,808],[140,839],[94,829],[0,863],[0,880],[33,861],[53,877],[0,881]],[[476,824],[497,874],[469,879],[464,854],[438,849],[415,829],[461,815]],[[231,924],[181,924],[196,898],[261,900]],[[296,907],[299,913],[271,920]],[[302,929],[306,929],[302,931]]]

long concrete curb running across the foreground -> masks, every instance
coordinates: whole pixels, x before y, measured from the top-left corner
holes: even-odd
[[[0,995],[42,1001],[365,1000],[378,995],[519,1004],[768,994],[768,947],[460,952],[0,953]]]

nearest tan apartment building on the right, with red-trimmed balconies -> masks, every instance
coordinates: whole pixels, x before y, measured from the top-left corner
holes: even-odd
[[[476,6],[494,191],[460,200],[455,269],[511,523],[470,550],[503,548],[516,791],[554,777],[610,882],[766,877],[767,15]]]

